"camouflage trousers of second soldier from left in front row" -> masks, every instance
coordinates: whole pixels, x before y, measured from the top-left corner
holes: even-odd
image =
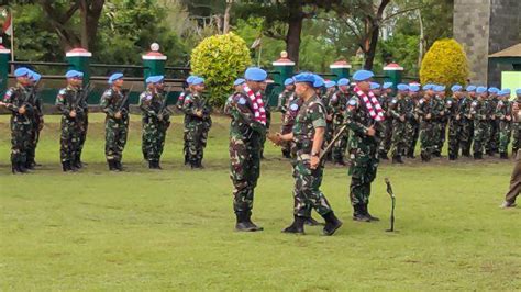
[[[71,162],[77,158],[81,130],[76,119],[62,116],[62,135],[59,137],[59,158],[62,162]]]

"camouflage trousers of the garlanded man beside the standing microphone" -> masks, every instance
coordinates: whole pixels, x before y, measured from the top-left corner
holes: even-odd
[[[368,204],[370,183],[378,170],[378,143],[359,137],[352,138],[350,145],[350,200],[352,205]]]

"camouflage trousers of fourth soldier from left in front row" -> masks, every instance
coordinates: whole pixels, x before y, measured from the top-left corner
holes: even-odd
[[[168,123],[147,122],[143,123],[142,150],[144,158],[148,161],[159,161],[165,147],[166,131]]]

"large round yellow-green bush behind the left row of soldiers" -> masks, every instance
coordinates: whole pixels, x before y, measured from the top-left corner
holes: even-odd
[[[223,105],[233,80],[252,64],[243,38],[234,33],[204,38],[191,52],[191,69],[206,78],[214,105]]]

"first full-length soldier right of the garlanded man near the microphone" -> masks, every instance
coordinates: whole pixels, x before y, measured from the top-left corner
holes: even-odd
[[[407,125],[407,85],[398,85],[398,94],[389,103],[389,112],[392,119],[392,164],[403,164],[401,156],[407,148],[406,125]]]

